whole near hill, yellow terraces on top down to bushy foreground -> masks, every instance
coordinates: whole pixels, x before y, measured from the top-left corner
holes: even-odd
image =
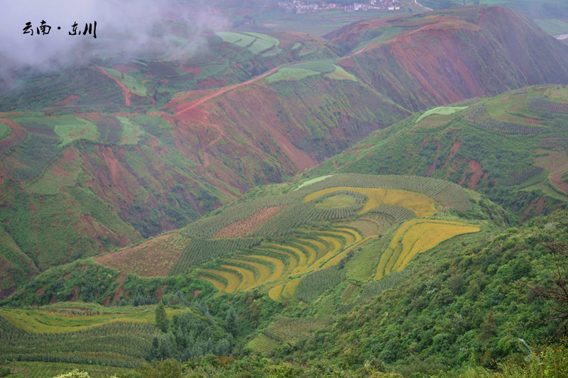
[[[295,218],[286,212],[291,208]],[[531,347],[545,343],[560,326],[560,320],[535,323],[557,309],[531,299],[530,287],[555,277],[546,243],[565,243],[566,217],[562,211],[507,228],[510,218],[499,206],[427,177],[334,174],[258,187],[179,234],[165,234],[173,235],[170,248],[186,246],[170,256],[173,268],[161,277],[139,277],[117,265],[126,259],[131,269],[152,258],[165,243],[161,237],[40,274],[0,309],[8,330],[2,337],[11,340],[3,353],[117,367],[175,357],[191,361],[188,372],[210,369],[215,377],[239,374],[243,364],[253,364],[249,369],[259,376],[289,360],[304,361],[313,374],[410,377],[468,366],[486,374],[506,356],[524,357],[518,339]],[[418,245],[416,255],[405,255]],[[383,260],[390,269],[381,267]],[[175,323],[168,334],[151,324],[156,297]],[[41,307],[26,307],[31,304]],[[230,308],[236,326],[229,326],[235,321]],[[186,335],[176,328],[182,322],[204,322],[210,340],[201,344],[204,339]],[[143,334],[133,327],[148,333],[145,344],[114,351],[112,343]],[[36,328],[48,333],[35,334]],[[61,331],[65,337],[55,338]],[[84,338],[94,342],[72,346],[80,350],[73,357],[60,346]],[[22,340],[43,347],[30,353]],[[112,346],[98,354],[97,340]],[[183,340],[195,340],[195,348]],[[248,357],[212,366],[200,357],[229,350]]]

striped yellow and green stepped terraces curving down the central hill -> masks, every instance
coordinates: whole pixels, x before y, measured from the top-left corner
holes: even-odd
[[[249,291],[266,285],[265,290],[275,301],[289,299],[295,296],[297,284],[305,274],[339,264],[349,250],[370,238],[364,238],[356,228],[342,226],[312,231],[281,243],[263,242],[222,259],[216,269],[202,269],[202,278],[219,293]]]

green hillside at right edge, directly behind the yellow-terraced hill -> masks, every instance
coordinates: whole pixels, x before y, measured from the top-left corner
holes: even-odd
[[[487,194],[520,218],[563,207],[568,91],[515,89],[435,107],[373,133],[312,174],[420,174]]]

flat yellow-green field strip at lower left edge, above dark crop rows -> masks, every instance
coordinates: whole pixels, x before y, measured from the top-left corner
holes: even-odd
[[[80,307],[81,304],[74,304]],[[166,308],[168,318],[179,315],[180,310]],[[0,308],[0,315],[11,321],[14,325],[30,332],[60,333],[82,330],[89,327],[101,326],[116,321],[146,322],[155,321],[153,309],[140,310],[138,308],[120,308],[116,313],[102,313],[92,316],[66,316],[49,308],[26,309],[26,308]]]

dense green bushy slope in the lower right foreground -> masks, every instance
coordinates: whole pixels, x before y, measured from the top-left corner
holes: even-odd
[[[554,258],[540,242],[550,236],[547,221],[420,255],[405,271],[367,284],[359,302],[332,326],[283,343],[274,355],[351,369],[371,361],[405,376],[472,363],[496,368],[496,361],[519,352],[519,338],[544,343],[560,326],[535,323],[555,316],[555,308],[529,289],[554,274]]]

